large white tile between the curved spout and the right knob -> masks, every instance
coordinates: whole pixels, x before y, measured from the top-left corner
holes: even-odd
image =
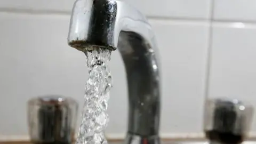
[[[201,132],[209,27],[204,23],[151,23],[162,62],[161,131]]]

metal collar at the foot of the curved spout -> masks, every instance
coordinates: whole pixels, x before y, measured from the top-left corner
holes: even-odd
[[[141,137],[140,135],[127,134],[125,144],[160,144],[158,135],[151,137]]]

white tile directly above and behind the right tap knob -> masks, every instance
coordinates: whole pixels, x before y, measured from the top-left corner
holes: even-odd
[[[228,97],[256,105],[256,27],[214,25],[210,98]],[[254,120],[256,117],[254,116]],[[256,130],[256,123],[253,123]]]

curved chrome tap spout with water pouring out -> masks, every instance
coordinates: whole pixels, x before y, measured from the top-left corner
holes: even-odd
[[[126,143],[159,143],[160,78],[157,45],[146,17],[131,5],[111,0],[77,0],[68,44],[121,52],[129,90]]]

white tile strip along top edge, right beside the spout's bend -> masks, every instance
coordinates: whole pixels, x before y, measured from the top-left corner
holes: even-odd
[[[207,19],[211,0],[125,0],[153,17]]]

